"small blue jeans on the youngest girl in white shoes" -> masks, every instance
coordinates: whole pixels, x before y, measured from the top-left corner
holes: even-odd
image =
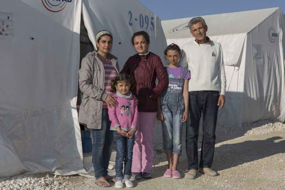
[[[132,170],[132,149],[135,143],[135,135],[132,138],[124,137],[117,131],[114,131],[114,140],[116,146],[116,179],[123,179],[123,162],[125,163],[124,178],[131,178]]]

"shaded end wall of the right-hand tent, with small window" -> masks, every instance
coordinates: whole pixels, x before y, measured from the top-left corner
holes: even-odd
[[[281,115],[280,105],[284,101],[281,98],[284,91],[282,89],[284,64],[281,64],[279,40],[270,42],[268,38],[268,30],[271,27],[277,34],[280,34],[279,15],[277,13],[271,15],[250,33],[251,47],[248,45],[246,54],[251,55],[251,58],[247,56],[246,71],[248,74],[245,74],[245,80],[250,84],[245,85],[244,90],[243,123],[263,119],[284,122],[284,118],[278,119]],[[258,59],[254,58],[252,50],[254,44],[261,45],[262,57]]]

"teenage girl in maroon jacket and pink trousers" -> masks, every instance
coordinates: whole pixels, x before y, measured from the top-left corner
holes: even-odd
[[[131,38],[137,54],[131,56],[120,73],[130,75],[135,81],[132,94],[139,100],[139,123],[135,132],[132,159],[132,178],[151,178],[153,164],[153,127],[157,112],[156,99],[168,86],[168,77],[158,55],[148,51],[149,35],[144,31]],[[156,85],[155,80],[159,82]]]

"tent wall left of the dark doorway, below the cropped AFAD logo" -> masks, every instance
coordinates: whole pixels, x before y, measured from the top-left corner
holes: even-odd
[[[0,177],[85,172],[75,104],[81,1],[61,12],[42,1],[0,4],[14,38],[1,40]]]

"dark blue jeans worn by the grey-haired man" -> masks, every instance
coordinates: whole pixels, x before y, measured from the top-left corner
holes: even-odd
[[[215,130],[218,116],[218,91],[189,92],[190,125],[186,128],[188,170],[210,168],[215,149]],[[198,166],[198,133],[203,113],[203,139]]]

